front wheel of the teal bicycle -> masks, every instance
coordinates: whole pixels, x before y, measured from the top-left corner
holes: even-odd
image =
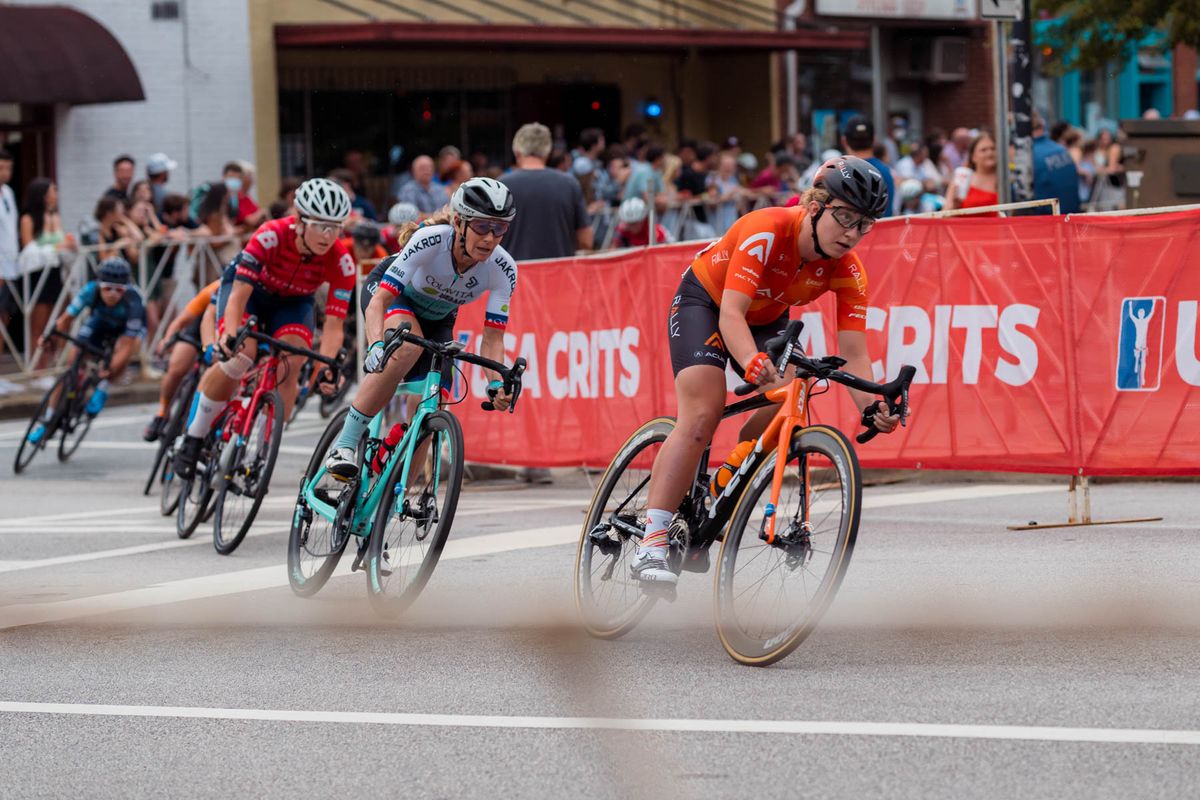
[[[403,476],[392,459],[367,549],[367,595],[384,616],[397,616],[421,594],[445,547],[463,473],[462,427],[449,411],[425,417]]]

